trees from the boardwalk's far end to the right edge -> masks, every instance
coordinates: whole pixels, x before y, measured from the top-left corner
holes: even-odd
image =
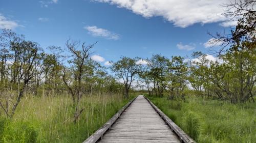
[[[146,66],[136,64],[136,59],[122,58],[113,65],[113,71],[123,79],[126,95],[135,75],[139,75],[149,95],[168,95],[168,99],[182,98],[193,90],[197,96],[214,97],[231,103],[254,102],[256,81],[256,1],[234,1],[225,5],[223,15],[237,25],[231,34],[210,34],[210,44],[222,43],[216,51],[217,58],[194,52],[192,59],[172,56],[171,59],[156,54],[145,59]],[[127,65],[130,63],[130,65]],[[125,65],[125,66],[123,66]],[[136,69],[137,70],[136,72]]]

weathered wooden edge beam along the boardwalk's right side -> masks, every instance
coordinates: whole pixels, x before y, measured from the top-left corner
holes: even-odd
[[[160,117],[166,122],[166,124],[174,131],[182,142],[185,143],[197,143],[195,140],[190,138],[179,126],[177,126],[172,120],[170,120],[150,99],[144,98],[151,104],[151,106],[157,111]]]

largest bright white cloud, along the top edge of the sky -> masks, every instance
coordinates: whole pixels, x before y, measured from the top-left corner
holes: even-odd
[[[119,8],[126,8],[132,12],[149,18],[161,16],[164,20],[173,22],[179,27],[186,27],[195,23],[212,23],[227,21],[222,15],[223,4],[230,0],[198,1],[198,0],[93,0],[96,2],[110,3]],[[231,0],[234,1],[234,0]]]

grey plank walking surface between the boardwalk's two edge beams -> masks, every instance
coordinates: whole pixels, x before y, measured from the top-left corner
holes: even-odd
[[[151,104],[140,95],[124,110],[116,123],[106,131],[98,142],[181,141]]]

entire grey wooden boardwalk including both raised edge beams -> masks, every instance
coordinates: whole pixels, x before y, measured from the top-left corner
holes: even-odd
[[[143,95],[124,106],[83,143],[195,142]]]

